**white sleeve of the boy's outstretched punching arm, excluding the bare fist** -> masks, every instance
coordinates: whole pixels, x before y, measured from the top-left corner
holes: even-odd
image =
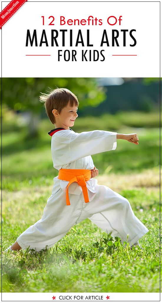
[[[77,159],[116,149],[116,132],[95,130],[73,133],[70,141],[71,162]]]

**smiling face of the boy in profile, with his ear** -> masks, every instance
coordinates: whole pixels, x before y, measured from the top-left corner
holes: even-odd
[[[69,103],[60,114],[54,109],[52,112],[55,113],[56,127],[68,129],[68,127],[74,126],[75,119],[78,117],[77,111],[78,107],[76,105],[71,107]]]

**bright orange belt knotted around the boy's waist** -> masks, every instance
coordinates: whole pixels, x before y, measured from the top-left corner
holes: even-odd
[[[58,175],[58,179],[69,181],[68,187],[73,182],[77,182],[78,185],[81,186],[85,203],[89,202],[86,181],[90,180],[90,178],[91,178],[90,169],[64,169],[64,168],[61,168],[59,170],[59,175]],[[69,200],[69,196],[68,196],[68,187],[66,189],[66,204],[70,205],[70,200]]]

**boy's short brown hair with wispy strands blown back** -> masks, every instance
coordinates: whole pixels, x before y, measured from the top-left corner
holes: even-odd
[[[62,109],[68,105],[68,102],[70,102],[71,107],[73,107],[74,104],[76,106],[79,104],[77,97],[67,88],[56,88],[49,94],[41,94],[40,102],[44,102],[46,113],[52,124],[56,123],[55,117],[52,114],[53,109],[57,109],[60,114]]]

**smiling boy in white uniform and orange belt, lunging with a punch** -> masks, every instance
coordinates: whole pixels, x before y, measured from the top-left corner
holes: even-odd
[[[69,229],[89,218],[112,237],[122,243],[138,245],[138,239],[148,229],[134,215],[129,201],[93,179],[98,175],[91,155],[116,149],[116,139],[138,145],[137,134],[117,134],[95,130],[75,133],[70,127],[78,117],[78,99],[66,88],[57,88],[49,95],[43,94],[46,113],[55,124],[48,134],[52,137],[51,149],[55,177],[52,195],[47,200],[43,216],[27,228],[7,250],[30,249],[41,251],[52,247]],[[6,250],[6,251],[7,251]]]

